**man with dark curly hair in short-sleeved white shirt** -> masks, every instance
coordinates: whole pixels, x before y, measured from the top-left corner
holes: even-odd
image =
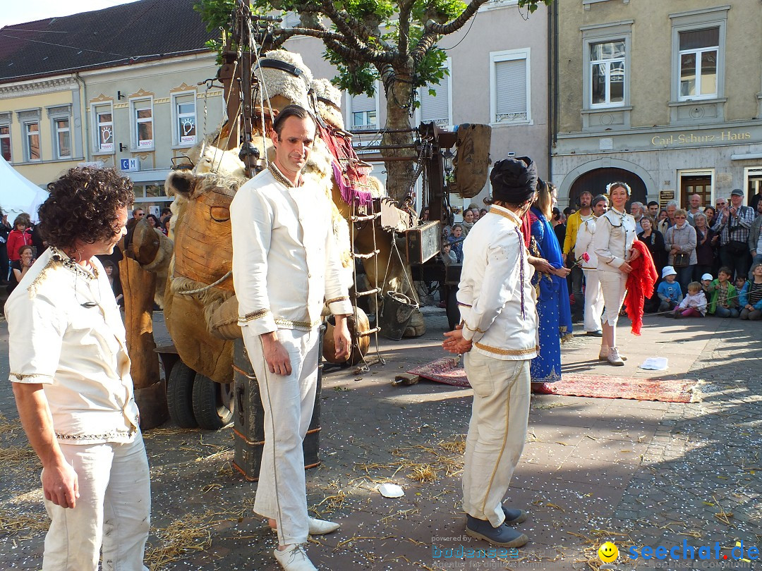
[[[72,168],[48,185],[50,247],[8,297],[13,391],[43,464],[51,523],[43,569],[143,571],[149,532],[146,449],[114,293],[96,255],[125,233],[132,183]]]

